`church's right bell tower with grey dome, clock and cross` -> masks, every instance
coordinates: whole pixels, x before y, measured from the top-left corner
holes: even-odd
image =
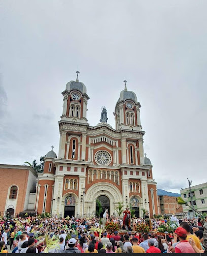
[[[141,131],[140,108],[141,105],[137,100],[133,91],[128,91],[126,87],[127,81],[124,80],[125,88],[120,92],[120,97],[115,107],[116,129],[130,129]]]

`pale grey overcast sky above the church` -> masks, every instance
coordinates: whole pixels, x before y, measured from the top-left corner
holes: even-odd
[[[206,182],[207,1],[2,0],[0,163],[58,154],[66,83],[87,87],[87,118],[108,123],[124,89],[141,104],[158,188]]]

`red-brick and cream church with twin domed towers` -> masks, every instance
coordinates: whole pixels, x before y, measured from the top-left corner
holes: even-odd
[[[141,105],[136,94],[125,88],[115,106],[115,127],[107,123],[102,109],[100,123],[91,127],[87,120],[86,86],[76,81],[66,84],[63,112],[59,121],[58,156],[46,154],[44,172],[38,173],[36,203],[39,214],[91,217],[96,213],[96,199],[110,215],[116,207],[130,204],[137,217],[142,209],[158,214],[156,182],[152,164],[144,156],[140,121]],[[118,95],[117,95],[118,96]]]

